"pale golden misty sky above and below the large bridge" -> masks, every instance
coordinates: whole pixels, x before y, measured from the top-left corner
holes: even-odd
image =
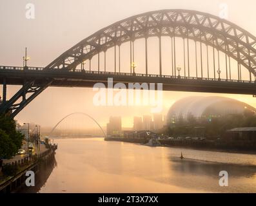
[[[25,18],[27,3],[35,5],[35,19]],[[153,10],[182,8],[219,15],[220,4],[228,5],[228,20],[256,35],[256,2],[205,0],[1,0],[0,1],[0,64],[22,66],[25,47],[32,58],[28,65],[46,66],[74,44],[101,28],[132,15]],[[8,86],[8,97],[19,87]],[[2,86],[0,86],[2,94]],[[188,95],[218,95],[236,98],[256,107],[256,98],[250,95],[221,95],[168,91],[164,92],[166,114],[170,106]],[[47,88],[19,115],[19,122],[35,122],[53,126],[62,117],[74,112],[92,115],[105,125],[108,118],[121,115],[123,126],[132,126],[133,116],[150,113],[150,107],[96,107],[92,88]],[[77,117],[80,120],[82,117]],[[83,117],[84,118],[84,117]],[[72,118],[75,120],[75,118]],[[88,120],[87,126],[94,126]]]

